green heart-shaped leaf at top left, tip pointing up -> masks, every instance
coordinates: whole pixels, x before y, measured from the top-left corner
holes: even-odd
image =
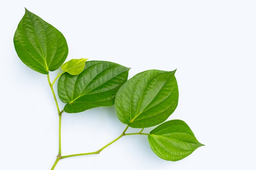
[[[13,42],[20,60],[39,73],[57,70],[67,58],[68,48],[63,34],[27,9]]]

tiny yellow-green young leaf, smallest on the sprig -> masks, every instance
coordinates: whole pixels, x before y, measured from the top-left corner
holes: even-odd
[[[67,73],[70,73],[71,75],[78,75],[83,71],[83,68],[85,67],[86,58],[81,59],[71,59],[68,62],[65,62],[61,69]]]

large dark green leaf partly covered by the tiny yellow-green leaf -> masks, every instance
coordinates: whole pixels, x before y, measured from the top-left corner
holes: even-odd
[[[130,68],[112,62],[88,61],[79,75],[64,73],[58,80],[58,96],[67,113],[112,106],[117,90],[127,81]]]

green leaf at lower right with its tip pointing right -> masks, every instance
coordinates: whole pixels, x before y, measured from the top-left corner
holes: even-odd
[[[204,146],[182,120],[166,121],[157,126],[148,135],[148,142],[158,157],[168,161],[183,159]]]

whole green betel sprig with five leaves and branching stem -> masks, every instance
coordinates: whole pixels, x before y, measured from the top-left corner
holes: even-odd
[[[148,70],[128,80],[130,68],[107,61],[72,59],[65,62],[68,54],[63,34],[43,19],[25,9],[14,35],[14,46],[20,60],[29,68],[47,75],[59,116],[59,151],[52,166],[60,159],[99,154],[106,147],[127,135],[146,135],[155,154],[168,161],[178,161],[203,146],[189,126],[182,120],[169,120],[178,103],[178,86],[175,71]],[[65,63],[64,63],[65,62]],[[63,64],[64,63],[64,64]],[[49,71],[63,70],[53,82]],[[58,106],[54,84],[58,81],[58,97],[65,107]],[[73,155],[61,155],[61,115],[80,113],[85,110],[112,106],[118,119],[126,124],[124,131],[99,150]],[[144,128],[157,126],[150,133]],[[139,128],[137,133],[126,133]]]

